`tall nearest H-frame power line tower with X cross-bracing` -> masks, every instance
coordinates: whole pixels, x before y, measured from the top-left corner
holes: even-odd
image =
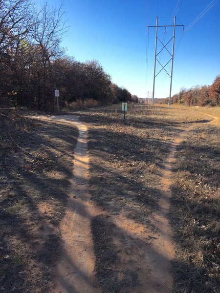
[[[176,33],[176,26],[182,26],[184,27],[183,24],[176,25],[176,16],[174,17],[174,25],[158,25],[158,16],[156,17],[156,25],[149,25],[149,27],[155,27],[156,28],[156,36],[155,36],[155,52],[154,52],[154,82],[153,82],[153,95],[152,95],[152,105],[154,105],[154,92],[155,92],[155,78],[157,75],[162,71],[165,70],[165,72],[169,75],[170,77],[170,95],[169,95],[169,103],[168,105],[171,104],[171,92],[172,92],[172,80],[173,80],[173,67],[174,67],[174,46],[175,46],[175,33]],[[173,32],[173,37],[166,43],[164,44],[159,38],[158,38],[158,27],[174,27],[174,32]],[[173,45],[172,45],[172,53],[168,50],[167,45],[173,40]],[[159,41],[162,44],[162,49],[157,53],[157,41]],[[171,55],[171,59],[163,66],[159,60],[157,59],[157,56],[162,52],[163,49],[166,49],[167,52]],[[159,63],[162,67],[162,69],[156,74],[156,63]],[[171,73],[169,74],[165,67],[171,62]]]

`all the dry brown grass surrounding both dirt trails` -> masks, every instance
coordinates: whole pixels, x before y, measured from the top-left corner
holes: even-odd
[[[164,160],[188,129],[172,173],[173,292],[219,293],[220,119],[211,116],[220,118],[220,108],[129,105],[123,124],[120,107],[74,113],[89,128],[91,198],[103,210],[91,223],[103,292],[138,292],[138,272],[120,268],[111,217],[124,211],[154,230],[148,218],[161,195]],[[78,131],[18,112],[1,112],[0,129],[0,290],[53,292]]]

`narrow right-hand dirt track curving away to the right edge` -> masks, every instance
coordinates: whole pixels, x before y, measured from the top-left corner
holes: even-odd
[[[204,113],[203,113],[204,114]],[[205,124],[218,124],[219,118],[206,114],[213,118]],[[184,140],[189,131],[200,125],[193,124],[181,129],[180,134],[176,137],[169,149],[169,155],[163,164],[163,175],[161,178],[161,197],[158,202],[158,209],[149,219],[149,225],[154,227],[153,235],[149,235],[151,243],[146,251],[145,259],[148,263],[148,279],[144,290],[140,292],[149,293],[171,293],[173,292],[173,276],[170,272],[171,261],[175,258],[175,247],[173,242],[172,228],[169,223],[168,213],[170,210],[170,198],[172,192],[171,176],[173,174],[172,166],[176,162],[177,146]],[[148,238],[149,238],[148,236]]]

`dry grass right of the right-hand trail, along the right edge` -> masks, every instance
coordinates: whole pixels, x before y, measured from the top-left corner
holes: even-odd
[[[219,293],[220,128],[192,130],[179,147],[175,168],[175,292]]]

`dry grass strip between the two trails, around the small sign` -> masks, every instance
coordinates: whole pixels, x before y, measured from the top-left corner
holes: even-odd
[[[89,123],[92,199],[109,215],[123,210],[128,217],[154,230],[147,219],[157,207],[164,158],[186,124],[206,122],[207,117],[189,110],[146,109],[139,105],[127,113],[125,125],[118,105],[91,110],[81,117]],[[120,259],[112,245],[111,224],[105,217],[93,221],[96,272],[103,292],[132,292],[130,285],[121,285],[115,270]],[[103,251],[114,255],[107,268]]]

